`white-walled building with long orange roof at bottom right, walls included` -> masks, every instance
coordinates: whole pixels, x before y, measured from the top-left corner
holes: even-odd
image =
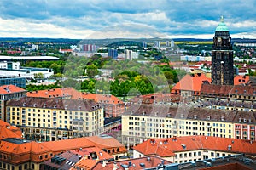
[[[212,136],[184,136],[167,139],[148,139],[133,147],[134,158],[160,156],[174,163],[186,163],[219,157],[256,155],[256,142]]]

